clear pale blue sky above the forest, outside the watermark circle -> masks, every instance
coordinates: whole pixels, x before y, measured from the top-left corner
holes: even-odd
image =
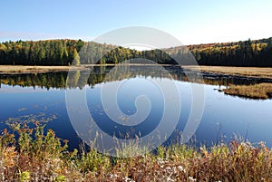
[[[150,26],[181,43],[220,43],[272,36],[271,0],[6,0],[0,42],[73,38],[90,41],[126,26]]]

